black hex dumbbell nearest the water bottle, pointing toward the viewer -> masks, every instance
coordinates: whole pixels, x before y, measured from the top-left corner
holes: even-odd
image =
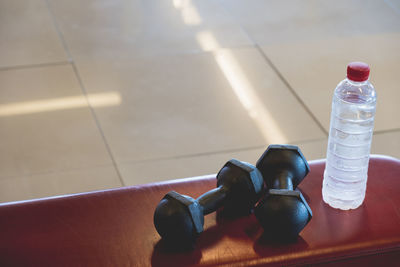
[[[268,238],[292,240],[312,218],[300,191],[295,190],[310,171],[297,146],[270,145],[257,161],[268,191],[254,213]]]

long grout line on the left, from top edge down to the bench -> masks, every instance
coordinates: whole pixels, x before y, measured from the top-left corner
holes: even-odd
[[[82,81],[82,79],[81,79],[81,76],[79,75],[78,68],[76,67],[75,61],[74,61],[73,58],[72,58],[72,54],[71,54],[71,52],[70,52],[70,50],[69,50],[69,48],[68,48],[68,46],[67,46],[67,42],[65,41],[64,35],[62,34],[60,28],[58,27],[58,23],[57,23],[57,20],[56,20],[55,15],[54,15],[54,13],[53,13],[53,11],[52,11],[52,9],[51,9],[49,0],[45,0],[45,2],[46,2],[47,9],[48,9],[48,11],[49,11],[49,13],[50,13],[50,16],[51,16],[51,18],[52,18],[52,20],[53,20],[54,27],[55,27],[55,29],[56,29],[56,31],[57,31],[58,37],[60,38],[61,44],[62,44],[63,47],[64,47],[65,53],[67,54],[68,60],[69,60],[69,62],[70,62],[70,64],[71,64],[72,69],[73,69],[73,71],[74,71],[74,74],[75,74],[75,76],[76,76],[76,78],[77,78],[77,80],[78,80],[79,86],[81,87],[82,93],[83,93],[83,95],[85,96],[86,102],[88,103],[88,108],[89,108],[89,110],[90,110],[90,112],[91,112],[91,114],[92,114],[92,117],[93,117],[93,119],[94,119],[94,121],[95,121],[95,123],[96,123],[97,129],[98,129],[99,132],[100,132],[101,138],[103,139],[103,143],[104,143],[104,145],[105,145],[105,147],[106,147],[106,150],[107,150],[107,152],[108,152],[108,155],[109,155],[110,158],[111,158],[111,161],[112,161],[112,164],[113,164],[113,166],[114,166],[114,168],[115,168],[115,171],[117,172],[119,181],[121,182],[121,185],[122,185],[122,186],[126,186],[124,180],[122,179],[122,175],[121,175],[121,173],[120,173],[120,171],[119,171],[119,169],[118,169],[117,162],[116,162],[116,160],[115,160],[115,158],[114,158],[114,156],[113,156],[113,154],[112,154],[111,147],[110,147],[110,145],[108,144],[107,139],[106,139],[106,136],[105,136],[105,134],[104,134],[104,132],[103,132],[103,130],[102,130],[102,128],[101,128],[101,125],[100,125],[100,122],[99,122],[99,120],[98,120],[98,118],[97,118],[97,115],[96,115],[96,113],[95,113],[93,107],[90,105],[90,102],[89,102],[89,99],[88,99],[88,96],[87,96],[86,88],[85,88],[85,86],[84,86],[84,84],[83,84],[83,81]]]

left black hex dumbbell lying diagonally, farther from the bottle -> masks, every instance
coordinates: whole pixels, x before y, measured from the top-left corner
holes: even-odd
[[[217,188],[198,199],[167,193],[154,212],[154,226],[168,244],[192,247],[203,232],[204,215],[222,206],[230,215],[249,214],[263,189],[263,178],[255,166],[231,159],[217,174]]]

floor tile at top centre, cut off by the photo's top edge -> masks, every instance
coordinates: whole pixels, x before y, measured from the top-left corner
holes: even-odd
[[[136,58],[194,53],[212,33],[220,47],[251,45],[247,35],[211,0],[50,1],[75,59]],[[77,8],[79,6],[79,8]]]

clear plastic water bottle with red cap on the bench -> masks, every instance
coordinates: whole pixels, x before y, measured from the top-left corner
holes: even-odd
[[[359,207],[367,188],[376,92],[363,62],[347,66],[334,92],[322,197],[333,208]]]

